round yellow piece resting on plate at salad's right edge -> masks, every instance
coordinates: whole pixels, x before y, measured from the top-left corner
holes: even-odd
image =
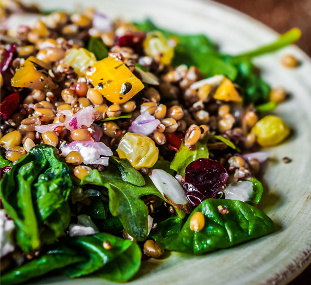
[[[256,134],[260,146],[271,147],[280,144],[289,135],[290,129],[278,116],[268,115],[256,123],[252,133]]]

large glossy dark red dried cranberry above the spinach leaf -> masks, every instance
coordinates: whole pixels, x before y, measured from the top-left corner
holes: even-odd
[[[186,197],[192,205],[214,198],[226,183],[227,171],[215,160],[200,158],[188,164],[185,170]]]

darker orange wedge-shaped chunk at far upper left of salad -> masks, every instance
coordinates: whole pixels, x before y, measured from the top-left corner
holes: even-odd
[[[34,56],[28,57],[11,79],[13,87],[55,89],[56,83],[49,75],[49,66]]]

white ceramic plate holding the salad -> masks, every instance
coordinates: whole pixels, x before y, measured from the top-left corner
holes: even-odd
[[[44,9],[79,10],[93,6],[112,17],[142,20],[149,16],[161,27],[187,33],[206,33],[229,53],[239,53],[273,41],[277,33],[255,20],[210,1],[88,0],[29,1]],[[280,63],[284,53],[302,61],[296,69]],[[268,236],[204,256],[171,253],[167,259],[143,262],[131,284],[285,284],[311,261],[311,61],[296,47],[256,59],[272,87],[284,86],[289,101],[275,114],[294,134],[268,149],[265,192],[259,208],[277,224]],[[282,157],[292,159],[289,164]],[[33,283],[33,282],[32,282]],[[96,277],[74,280],[49,277],[36,284],[108,284]]]

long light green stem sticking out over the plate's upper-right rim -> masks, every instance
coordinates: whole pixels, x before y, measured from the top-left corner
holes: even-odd
[[[288,45],[294,44],[301,37],[301,31],[298,28],[292,28],[289,31],[280,35],[279,39],[271,44],[264,45],[260,48],[256,48],[253,51],[248,51],[239,55],[234,56],[234,58],[253,58],[256,56],[264,55],[266,53],[277,51]]]

